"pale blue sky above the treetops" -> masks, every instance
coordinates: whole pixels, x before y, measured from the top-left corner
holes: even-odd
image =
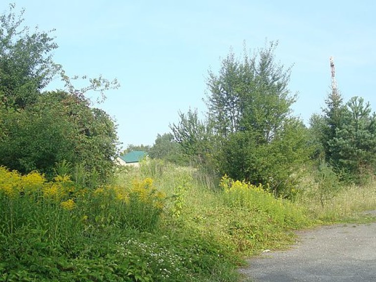
[[[244,40],[250,49],[279,41],[276,59],[294,65],[293,109],[305,122],[329,93],[330,56],[344,99],[362,96],[376,110],[374,0],[15,1],[25,24],[56,29],[54,60],[68,74],[118,78],[100,107],[116,118],[123,147],[153,144],[179,110],[203,113],[208,69],[230,47],[241,55]]]

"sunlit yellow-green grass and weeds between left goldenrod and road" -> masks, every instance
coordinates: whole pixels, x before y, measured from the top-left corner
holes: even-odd
[[[118,181],[149,175],[170,199],[163,221],[167,229],[182,226],[219,242],[237,258],[286,246],[293,238],[291,230],[311,224],[304,207],[276,199],[260,187],[229,179],[218,185],[219,181],[197,169],[163,161],[151,160],[120,173]]]

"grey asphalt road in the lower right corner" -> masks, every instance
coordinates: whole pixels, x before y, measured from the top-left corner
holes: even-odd
[[[376,223],[298,235],[291,250],[265,252],[240,271],[255,282],[376,282]]]

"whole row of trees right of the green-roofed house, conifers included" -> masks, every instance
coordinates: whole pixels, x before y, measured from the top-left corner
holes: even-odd
[[[196,110],[179,113],[170,125],[175,140],[192,164],[269,185],[283,197],[294,198],[303,177],[320,171],[364,184],[376,168],[376,115],[370,104],[361,97],[344,103],[334,89],[306,128],[291,115],[290,69],[276,63],[276,46],[272,42],[251,56],[245,52],[242,59],[230,52],[218,73],[209,72],[206,119]]]

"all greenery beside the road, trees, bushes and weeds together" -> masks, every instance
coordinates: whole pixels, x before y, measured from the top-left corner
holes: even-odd
[[[237,282],[243,258],[294,231],[375,220],[376,117],[334,89],[309,127],[271,42],[209,72],[208,112],[179,113],[140,167],[118,167],[116,124],[46,32],[0,17],[0,281]],[[66,89],[44,92],[54,77]],[[75,77],[73,77],[75,78]]]

